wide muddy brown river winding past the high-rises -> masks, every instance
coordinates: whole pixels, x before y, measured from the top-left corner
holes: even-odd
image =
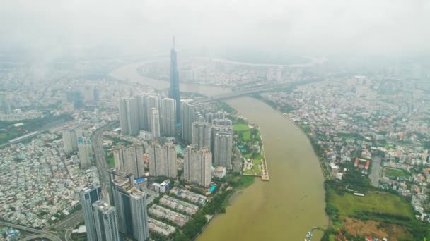
[[[142,78],[136,73],[141,63],[112,71],[115,78],[138,80],[154,88],[168,82]],[[202,85],[181,85],[181,91],[207,95],[228,89]],[[197,240],[303,240],[313,227],[325,228],[322,172],[306,135],[267,104],[250,97],[227,101],[251,123],[260,126],[265,145],[270,181],[255,179],[247,189],[236,192],[226,214],[219,214]],[[320,240],[322,233],[314,235]]]

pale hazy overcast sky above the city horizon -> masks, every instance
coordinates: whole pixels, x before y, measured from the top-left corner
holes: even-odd
[[[3,0],[0,49],[40,58],[180,48],[298,54],[430,53],[430,1]]]

